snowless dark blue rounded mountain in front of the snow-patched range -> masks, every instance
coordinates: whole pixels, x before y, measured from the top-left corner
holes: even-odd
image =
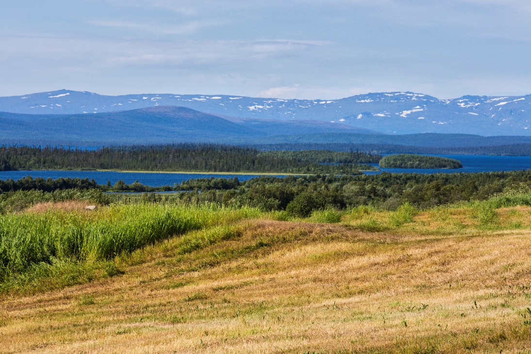
[[[234,120],[234,119],[233,119]],[[305,120],[241,118],[234,121],[191,108],[157,106],[100,114],[29,115],[0,112],[3,144],[127,145],[212,142],[228,137],[364,133],[367,129]]]

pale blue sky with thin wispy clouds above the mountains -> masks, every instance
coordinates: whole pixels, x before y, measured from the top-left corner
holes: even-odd
[[[0,96],[531,93],[529,0],[0,4]]]

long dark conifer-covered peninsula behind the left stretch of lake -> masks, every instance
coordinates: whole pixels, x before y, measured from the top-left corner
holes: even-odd
[[[79,169],[129,171],[255,172],[294,174],[359,174],[375,170],[358,163],[378,162],[365,152],[261,152],[219,144],[172,144],[72,150],[2,146],[0,170]],[[329,163],[332,162],[332,163]]]

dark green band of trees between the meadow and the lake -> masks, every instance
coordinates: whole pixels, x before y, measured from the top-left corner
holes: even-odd
[[[239,181],[237,178],[189,179],[181,184],[164,187],[144,186],[138,182],[114,186],[97,185],[88,179],[23,178],[0,181],[4,192],[54,192],[63,189],[105,191],[184,191],[173,197],[190,203],[214,202],[226,205],[251,205],[263,210],[286,210],[306,216],[315,209],[345,209],[374,205],[395,209],[408,202],[418,208],[459,201],[485,200],[508,189],[531,191],[531,170],[456,174],[395,174],[379,175],[305,175],[262,176]]]

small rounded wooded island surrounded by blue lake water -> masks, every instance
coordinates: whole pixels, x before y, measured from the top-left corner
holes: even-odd
[[[388,155],[380,160],[383,168],[463,168],[455,159],[413,154]]]

